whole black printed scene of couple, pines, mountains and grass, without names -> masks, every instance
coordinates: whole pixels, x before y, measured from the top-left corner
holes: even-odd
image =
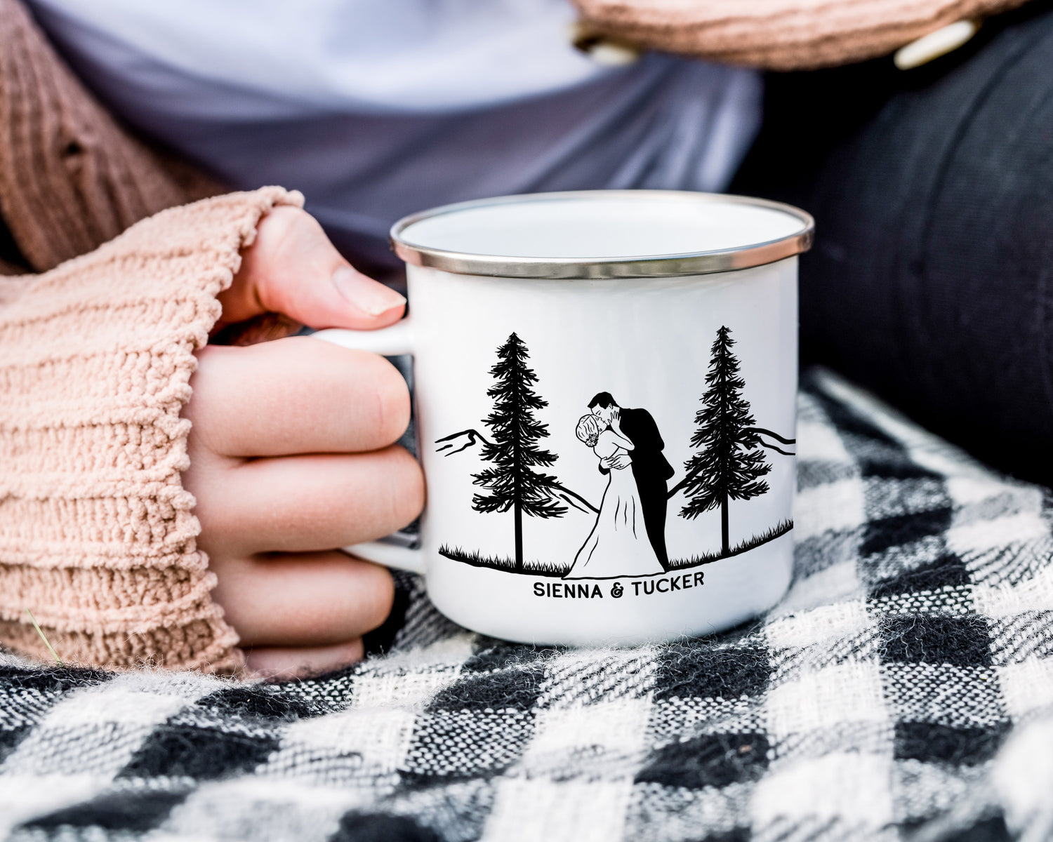
[[[484,424],[493,441],[469,428],[439,439],[439,452],[446,456],[476,447],[489,465],[472,475],[474,484],[485,493],[475,494],[476,512],[513,513],[514,554],[488,557],[461,547],[443,545],[448,558],[480,567],[533,576],[564,579],[613,579],[647,577],[681,570],[746,553],[784,535],[793,522],[782,521],[761,535],[731,546],[729,505],[748,501],[769,490],[766,477],[772,469],[762,448],[793,456],[783,445],[795,444],[755,424],[750,404],[742,395],[746,381],[732,353],[731,330],[717,330],[706,375],[702,407],[695,415],[696,429],[690,444],[695,453],[683,463],[684,476],[672,488],[675,470],[664,456],[665,443],[652,414],[644,408],[618,405],[608,392],[596,394],[589,412],[577,421],[576,435],[590,447],[597,469],[604,478],[600,505],[568,488],[559,479],[540,468],[551,468],[558,455],[539,442],[549,436],[549,426],[537,413],[549,406],[538,394],[538,378],[526,365],[526,345],[512,334],[497,349],[498,362],[490,374],[495,383],[486,392],[494,399]],[[669,501],[682,496],[678,515],[688,520],[714,509],[720,512],[719,550],[700,548],[696,555],[670,559],[665,547]],[[573,562],[525,559],[523,515],[539,519],[561,518],[569,510],[594,515]]]

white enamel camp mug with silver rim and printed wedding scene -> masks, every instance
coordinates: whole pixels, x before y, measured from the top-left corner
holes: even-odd
[[[468,628],[633,644],[756,617],[793,563],[797,255],[811,217],[664,191],[512,196],[393,227],[410,316],[316,337],[411,354],[421,574]]]

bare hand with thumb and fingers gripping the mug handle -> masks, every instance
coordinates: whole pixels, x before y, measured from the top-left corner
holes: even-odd
[[[355,272],[306,213],[259,224],[221,325],[280,313],[312,327],[383,327],[405,299]],[[410,396],[382,357],[310,337],[197,353],[183,485],[197,500],[198,546],[213,599],[250,668],[294,676],[361,659],[394,588],[383,567],[335,548],[411,522],[423,505],[417,462],[394,442]]]

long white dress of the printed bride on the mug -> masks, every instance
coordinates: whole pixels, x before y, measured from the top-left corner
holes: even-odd
[[[609,432],[600,434],[593,452],[603,459],[624,454]],[[630,455],[631,457],[632,455]],[[612,468],[596,523],[574,557],[564,579],[648,576],[663,573],[643,524],[643,509],[632,467]]]

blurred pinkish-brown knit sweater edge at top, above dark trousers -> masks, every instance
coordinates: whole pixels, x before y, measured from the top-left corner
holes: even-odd
[[[995,15],[1026,0],[574,2],[588,37],[792,71],[883,56],[955,21]]]

